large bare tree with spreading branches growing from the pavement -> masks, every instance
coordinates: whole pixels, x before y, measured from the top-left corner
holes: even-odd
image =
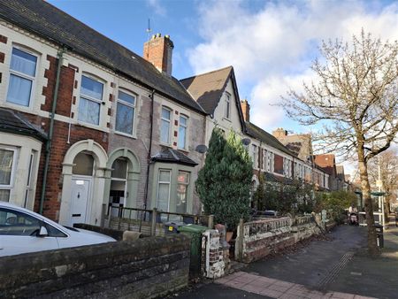
[[[371,34],[351,42],[322,42],[321,58],[311,66],[316,80],[303,92],[290,90],[280,105],[302,125],[321,124],[316,139],[327,151],[356,157],[364,196],[368,249],[379,249],[374,228],[367,165],[396,142],[398,131],[398,42]]]

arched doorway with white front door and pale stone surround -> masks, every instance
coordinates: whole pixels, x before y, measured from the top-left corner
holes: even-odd
[[[62,169],[59,223],[99,225],[107,160],[103,147],[90,139],[76,142],[68,149]]]

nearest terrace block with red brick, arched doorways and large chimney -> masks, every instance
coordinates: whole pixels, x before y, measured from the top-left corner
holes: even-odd
[[[44,1],[0,2],[0,198],[62,224],[103,204],[197,213],[206,113],[172,77]]]

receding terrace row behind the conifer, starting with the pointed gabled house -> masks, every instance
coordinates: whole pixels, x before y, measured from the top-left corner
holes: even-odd
[[[181,83],[208,113],[206,142],[214,126],[226,133],[232,129],[241,136],[253,159],[253,190],[258,186],[260,173],[269,181],[285,184],[300,178],[307,183],[314,182],[319,189],[329,189],[329,174],[312,161],[308,135],[295,147],[289,146],[279,141],[282,134],[287,134],[285,130],[269,134],[250,122],[250,105],[248,100],[240,100],[232,66],[198,74]]]

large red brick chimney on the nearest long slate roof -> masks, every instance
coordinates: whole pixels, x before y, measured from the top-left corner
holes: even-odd
[[[174,44],[169,35],[152,35],[149,42],[144,43],[143,58],[155,65],[159,72],[172,75],[172,49]]]

